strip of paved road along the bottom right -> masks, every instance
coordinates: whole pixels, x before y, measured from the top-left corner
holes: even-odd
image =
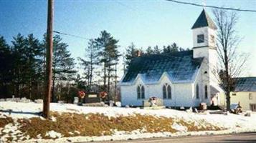
[[[169,137],[155,139],[138,139],[129,141],[111,141],[101,143],[256,143],[256,132],[243,134],[227,134],[227,135],[212,135],[212,136],[189,136],[189,137]],[[95,142],[96,143],[96,142]],[[100,142],[97,142],[100,143]]]

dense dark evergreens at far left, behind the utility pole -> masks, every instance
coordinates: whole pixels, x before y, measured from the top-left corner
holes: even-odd
[[[67,44],[59,35],[54,36],[52,63],[52,101],[63,99],[57,97],[56,86],[68,84],[74,79],[75,59],[67,50]],[[0,36],[0,96],[1,98],[27,97],[42,99],[44,94],[46,40],[39,40],[33,34],[17,34],[7,44]],[[56,95],[56,96],[55,96]]]

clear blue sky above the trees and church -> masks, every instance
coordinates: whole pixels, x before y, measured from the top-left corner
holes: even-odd
[[[202,1],[190,2],[202,4]],[[208,0],[207,5],[256,10],[255,0]],[[191,48],[191,26],[201,11],[202,7],[164,0],[55,0],[54,30],[89,39],[96,38],[100,31],[107,30],[119,40],[122,53],[131,42],[143,49],[173,42],[184,48]],[[212,16],[212,9],[207,8],[207,12]],[[243,37],[240,52],[251,54],[245,76],[256,76],[256,13],[238,12],[238,15],[240,19],[237,31]],[[46,0],[0,0],[0,35],[8,42],[18,33],[33,33],[42,39],[46,26]],[[68,49],[74,58],[84,56],[86,40],[71,36],[62,38],[69,44]]]

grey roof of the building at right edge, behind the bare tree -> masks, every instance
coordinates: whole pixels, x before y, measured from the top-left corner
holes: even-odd
[[[234,92],[256,92],[256,77],[236,78]]]

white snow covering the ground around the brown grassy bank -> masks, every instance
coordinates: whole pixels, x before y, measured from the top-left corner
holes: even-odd
[[[42,112],[42,104],[36,103],[21,103],[21,102],[0,102],[0,110],[4,111],[2,114],[12,117],[13,119],[38,117],[37,113]],[[251,117],[245,117],[237,114],[196,114],[177,111],[174,109],[138,109],[138,108],[120,108],[120,107],[81,107],[75,104],[50,104],[50,110],[53,112],[72,112],[77,114],[99,113],[108,117],[118,117],[120,115],[130,116],[133,114],[153,115],[156,117],[172,117],[174,119],[184,119],[186,121],[205,121],[217,127],[225,128],[222,131],[207,131],[207,132],[186,132],[186,127],[181,124],[174,123],[172,127],[179,130],[171,134],[170,132],[158,133],[142,133],[140,131],[125,132],[115,131],[111,136],[103,137],[62,137],[62,134],[54,131],[48,132],[49,137],[58,138],[53,142],[85,142],[85,141],[99,141],[99,140],[123,140],[123,139],[139,139],[148,137],[170,137],[180,135],[202,135],[202,134],[229,134],[238,132],[256,132],[256,114],[252,113]],[[11,114],[10,114],[11,113]],[[7,129],[15,128],[11,125],[4,127]],[[16,131],[15,129],[12,129]],[[16,131],[19,132],[19,131]],[[14,134],[16,134],[14,132]],[[74,131],[75,132],[75,131]],[[72,134],[72,133],[70,133]],[[62,138],[61,138],[62,137]],[[34,139],[25,141],[32,142]],[[38,141],[38,139],[37,139]],[[45,139],[40,139],[40,142],[49,142]]]

